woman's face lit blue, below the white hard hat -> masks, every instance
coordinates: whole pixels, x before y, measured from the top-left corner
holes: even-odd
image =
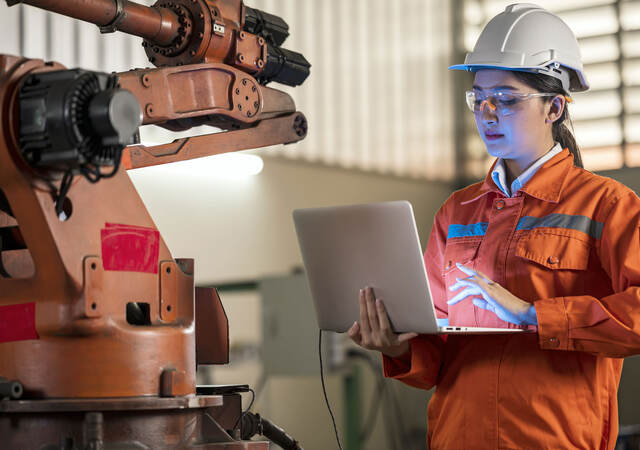
[[[508,70],[478,70],[473,90],[479,98],[489,97],[497,103],[495,110],[485,104],[474,113],[478,133],[491,156],[512,159],[526,167],[553,147],[552,123],[548,121],[551,103],[544,102],[549,98],[533,97],[501,105],[493,96],[496,92],[535,92]]]

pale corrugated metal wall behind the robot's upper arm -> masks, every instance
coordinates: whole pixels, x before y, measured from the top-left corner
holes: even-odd
[[[261,154],[398,176],[451,179],[446,3],[253,0],[247,4],[283,17],[291,31],[284,47],[303,53],[313,65],[303,86],[283,87],[307,115],[308,137]],[[2,53],[109,72],[149,65],[139,38],[100,35],[93,25],[34,7],[8,8],[0,3],[0,26]]]

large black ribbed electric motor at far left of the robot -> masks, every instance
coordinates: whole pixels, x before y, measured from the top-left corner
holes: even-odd
[[[80,69],[35,73],[22,82],[20,151],[40,172],[63,174],[59,216],[75,175],[91,183],[112,177],[124,147],[139,141],[140,104],[117,84],[115,75]]]

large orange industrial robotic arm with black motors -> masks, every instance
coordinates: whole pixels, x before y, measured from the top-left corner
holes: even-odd
[[[309,74],[281,47],[288,26],[241,0],[7,3],[140,36],[155,68],[0,55],[3,445],[266,449],[225,431],[249,423],[239,394],[196,392],[198,364],[228,362],[226,316],[215,289],[194,287],[193,260],[170,254],[126,169],[303,139],[304,115],[266,86]],[[222,131],[146,147],[141,124]]]

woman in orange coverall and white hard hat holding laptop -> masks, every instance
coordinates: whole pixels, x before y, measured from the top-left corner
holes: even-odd
[[[555,15],[511,5],[466,64],[478,132],[497,157],[436,214],[425,253],[439,320],[516,335],[394,334],[360,293],[359,345],[385,376],[436,391],[432,449],[613,449],[622,358],[640,352],[640,200],[581,168],[563,124],[588,89],[577,41]]]

